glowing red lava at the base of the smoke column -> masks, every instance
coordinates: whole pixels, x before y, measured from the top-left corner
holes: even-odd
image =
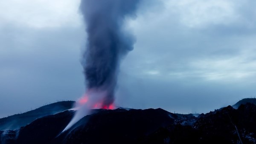
[[[88,95],[84,95],[82,98],[80,98],[78,103],[81,105],[90,103]],[[103,102],[100,101],[96,104],[93,104],[91,109],[115,109],[115,105],[113,103],[110,105],[104,105]]]

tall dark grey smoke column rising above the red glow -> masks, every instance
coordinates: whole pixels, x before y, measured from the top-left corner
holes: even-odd
[[[102,106],[114,101],[120,59],[133,49],[134,38],[123,31],[125,17],[135,16],[139,0],[81,0],[87,31],[82,65],[87,89],[104,91]]]

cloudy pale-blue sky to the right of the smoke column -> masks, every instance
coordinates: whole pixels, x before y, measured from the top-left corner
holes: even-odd
[[[252,3],[177,3],[170,0],[159,12],[138,14],[128,25],[137,43],[122,63],[129,81],[119,82],[119,92],[127,95],[119,101],[142,108],[161,105],[176,112],[207,112],[255,95]]]

